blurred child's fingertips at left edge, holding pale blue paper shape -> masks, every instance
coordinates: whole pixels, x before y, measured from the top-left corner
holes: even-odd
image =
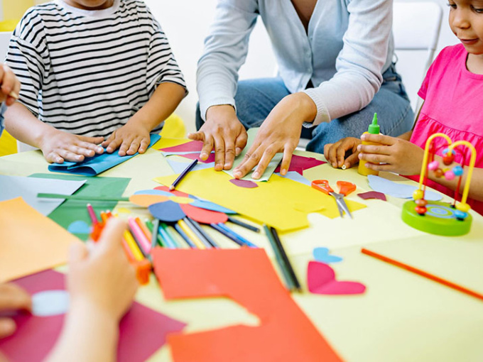
[[[15,284],[0,285],[0,313],[11,312],[16,310],[31,311],[31,296]],[[13,319],[0,318],[0,338],[4,338],[13,334],[16,330],[16,324]]]

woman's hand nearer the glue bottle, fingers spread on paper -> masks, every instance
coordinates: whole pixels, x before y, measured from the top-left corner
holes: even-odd
[[[234,177],[244,177],[258,165],[252,175],[258,180],[273,156],[279,152],[283,152],[281,174],[286,175],[293,150],[300,139],[302,124],[304,121],[313,121],[316,115],[317,106],[307,94],[299,92],[283,98],[261,125],[244,160],[234,169]]]

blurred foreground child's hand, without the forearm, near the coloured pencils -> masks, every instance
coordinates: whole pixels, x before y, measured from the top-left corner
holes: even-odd
[[[138,282],[121,246],[124,230],[125,221],[109,219],[90,253],[83,244],[72,246],[67,282],[72,312],[117,323],[131,305]]]

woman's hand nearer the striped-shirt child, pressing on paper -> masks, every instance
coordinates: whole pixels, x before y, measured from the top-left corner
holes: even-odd
[[[196,133],[188,138],[202,141],[200,158],[206,160],[215,148],[215,170],[229,170],[235,156],[246,146],[248,135],[230,105],[211,106],[206,112],[206,122]]]

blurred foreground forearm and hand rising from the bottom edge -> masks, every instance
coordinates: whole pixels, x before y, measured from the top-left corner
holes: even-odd
[[[126,223],[110,219],[90,253],[71,249],[67,287],[70,311],[48,361],[115,361],[119,321],[138,283],[121,246]]]

